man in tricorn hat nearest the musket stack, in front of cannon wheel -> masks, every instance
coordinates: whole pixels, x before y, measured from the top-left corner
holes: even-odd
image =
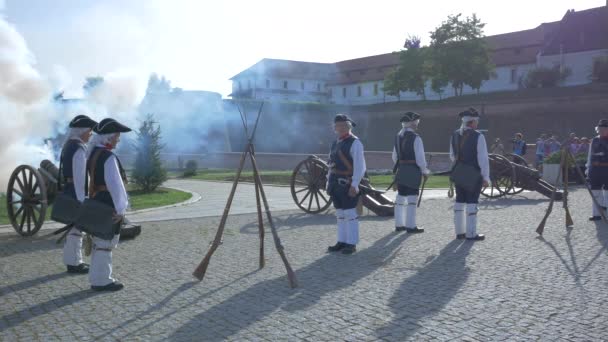
[[[354,126],[356,124],[346,114],[338,114],[334,118],[338,140],[331,145],[327,175],[327,193],[333,200],[338,219],[338,242],[328,247],[328,251],[342,251],[343,254],[354,253],[359,242],[356,207],[359,182],[365,174],[363,144],[352,134]]]

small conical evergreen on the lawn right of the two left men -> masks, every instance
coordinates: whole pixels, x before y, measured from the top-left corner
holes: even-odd
[[[163,168],[160,159],[163,149],[160,126],[154,121],[153,115],[148,114],[139,127],[134,148],[136,157],[133,180],[144,192],[152,192],[167,180],[167,170]]]

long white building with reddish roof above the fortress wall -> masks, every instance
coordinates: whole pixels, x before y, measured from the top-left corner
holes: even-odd
[[[594,61],[608,56],[608,7],[568,11],[560,21],[485,39],[496,68],[480,93],[520,89],[526,75],[538,67],[568,69],[570,75],[561,86],[587,84]],[[384,79],[398,64],[398,53],[337,63],[263,59],[231,78],[230,96],[345,105],[422,100],[421,95],[412,92],[385,94]],[[465,86],[462,94],[477,92]],[[425,95],[427,100],[438,100],[455,94],[449,85],[437,94],[429,81]]]

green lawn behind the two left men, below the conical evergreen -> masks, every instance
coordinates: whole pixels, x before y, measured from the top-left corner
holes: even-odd
[[[147,209],[162,207],[179,202],[186,201],[192,197],[188,192],[183,192],[168,188],[158,188],[154,192],[144,194],[140,190],[133,189],[129,186],[129,200],[131,201],[131,210]],[[52,206],[46,210],[46,217],[50,219]],[[6,212],[6,196],[0,194],[0,224],[10,224]]]

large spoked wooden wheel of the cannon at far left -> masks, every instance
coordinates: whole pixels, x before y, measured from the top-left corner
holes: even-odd
[[[40,230],[46,217],[46,185],[40,173],[29,165],[13,171],[6,191],[8,218],[21,236],[32,236]]]

